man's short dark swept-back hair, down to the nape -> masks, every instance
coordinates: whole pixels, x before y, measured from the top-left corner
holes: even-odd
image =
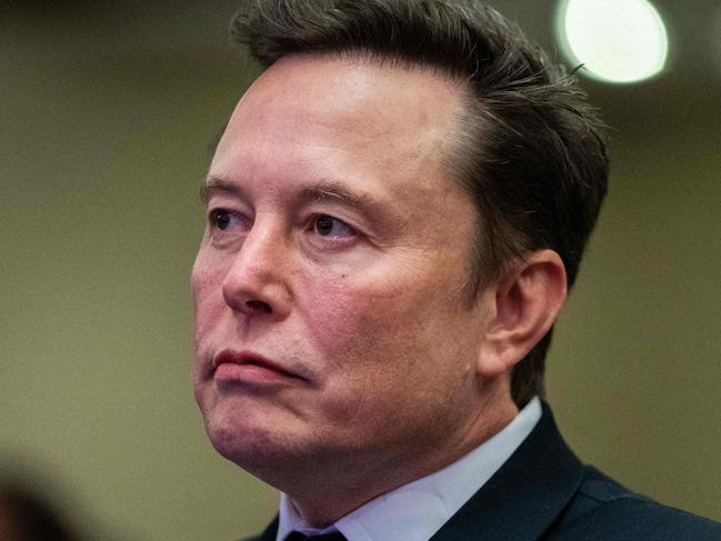
[[[463,112],[445,166],[481,217],[469,293],[543,248],[561,256],[573,284],[607,191],[602,124],[565,69],[493,9],[473,0],[252,0],[231,32],[266,67],[322,52],[458,82]],[[551,332],[513,371],[519,407],[543,395],[550,340]]]

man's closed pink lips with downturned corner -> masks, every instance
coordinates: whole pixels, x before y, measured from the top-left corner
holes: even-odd
[[[219,383],[271,383],[303,378],[252,351],[223,350],[212,360],[213,379]]]

